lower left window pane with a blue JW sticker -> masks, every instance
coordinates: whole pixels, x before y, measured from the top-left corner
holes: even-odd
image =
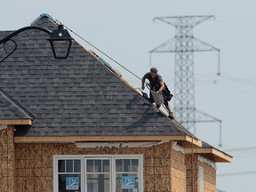
[[[61,192],[81,191],[80,174],[60,174],[59,175],[59,191]]]

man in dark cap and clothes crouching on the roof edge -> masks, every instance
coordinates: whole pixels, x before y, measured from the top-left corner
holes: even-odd
[[[150,90],[153,90],[155,92],[161,92],[163,94],[164,97],[164,105],[167,108],[168,112],[169,112],[169,117],[171,119],[174,118],[172,110],[171,110],[171,105],[169,104],[168,100],[165,97],[165,94],[163,93],[164,88],[164,80],[162,78],[162,76],[160,76],[159,74],[157,74],[157,68],[150,68],[150,72],[146,73],[141,80],[141,89],[144,90],[145,89],[145,80],[148,79],[149,81],[149,85],[150,85]],[[149,94],[149,102],[150,103],[154,103],[155,100],[150,92]],[[171,99],[170,99],[171,100]],[[160,105],[156,105],[156,108],[160,108]]]

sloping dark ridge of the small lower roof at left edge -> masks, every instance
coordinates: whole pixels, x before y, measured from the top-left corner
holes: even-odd
[[[29,119],[36,119],[36,116],[33,116],[26,108],[22,107],[20,103],[16,100],[13,100],[11,96],[9,96],[6,92],[4,92],[0,88],[0,100],[4,103],[4,105],[12,110],[12,112],[19,116],[20,118],[29,118]]]

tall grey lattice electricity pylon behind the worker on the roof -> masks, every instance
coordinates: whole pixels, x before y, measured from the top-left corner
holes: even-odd
[[[174,16],[156,17],[176,28],[175,36],[160,44],[149,53],[154,52],[174,52],[174,110],[176,119],[187,129],[194,129],[198,122],[220,122],[213,116],[199,111],[195,106],[195,77],[194,77],[194,52],[218,52],[219,64],[218,74],[220,74],[220,50],[210,44],[193,36],[193,28],[204,20],[214,18],[212,15],[205,16]],[[150,54],[151,55],[151,54]]]

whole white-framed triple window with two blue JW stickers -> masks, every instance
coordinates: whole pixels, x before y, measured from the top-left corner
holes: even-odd
[[[142,155],[54,156],[54,192],[142,192]]]

